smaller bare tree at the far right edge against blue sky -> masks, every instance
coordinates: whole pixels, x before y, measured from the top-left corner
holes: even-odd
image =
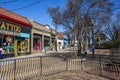
[[[118,47],[120,44],[117,44],[120,42],[120,24],[118,21],[112,21],[110,24],[106,25],[103,29],[104,34],[106,35],[108,41],[111,41],[113,45],[116,44]]]

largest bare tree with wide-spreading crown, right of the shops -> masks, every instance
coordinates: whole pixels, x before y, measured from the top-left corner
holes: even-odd
[[[81,43],[85,43],[89,37],[91,27],[96,25],[97,29],[94,31],[97,32],[102,25],[107,24],[111,6],[109,0],[68,0],[65,8],[60,11],[60,24],[66,30],[71,30],[77,38],[78,55],[81,53]]]

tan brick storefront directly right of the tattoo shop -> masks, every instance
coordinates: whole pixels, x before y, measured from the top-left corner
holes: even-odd
[[[31,30],[31,52],[40,53],[43,48],[50,50],[51,29],[36,21],[29,20],[33,25]]]

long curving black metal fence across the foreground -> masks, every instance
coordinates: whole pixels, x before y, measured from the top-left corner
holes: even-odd
[[[0,80],[24,80],[68,70],[80,70],[120,80],[120,64],[111,63],[109,56],[105,55],[83,58],[75,53],[51,54],[0,60]]]

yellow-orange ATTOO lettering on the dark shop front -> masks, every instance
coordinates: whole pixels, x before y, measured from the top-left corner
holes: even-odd
[[[15,24],[0,21],[0,29],[14,32],[21,32],[21,27]]]

